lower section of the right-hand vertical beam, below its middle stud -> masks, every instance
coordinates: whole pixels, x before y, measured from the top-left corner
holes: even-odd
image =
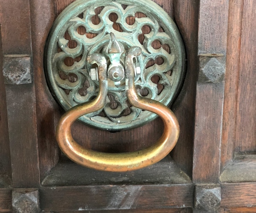
[[[223,83],[198,83],[193,181],[217,183],[221,140]],[[203,104],[204,103],[204,104]]]

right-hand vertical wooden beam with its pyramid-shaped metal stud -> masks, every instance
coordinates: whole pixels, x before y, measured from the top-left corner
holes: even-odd
[[[218,183],[229,0],[200,1],[194,183]]]

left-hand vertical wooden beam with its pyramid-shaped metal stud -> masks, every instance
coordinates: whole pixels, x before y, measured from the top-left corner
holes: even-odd
[[[0,11],[12,182],[14,187],[37,187],[39,164],[29,0],[9,3],[0,0]]]

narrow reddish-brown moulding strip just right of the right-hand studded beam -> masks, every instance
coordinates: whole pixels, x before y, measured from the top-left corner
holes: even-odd
[[[240,68],[242,15],[243,1],[230,0],[221,143],[221,168],[232,160],[236,141],[237,89]]]

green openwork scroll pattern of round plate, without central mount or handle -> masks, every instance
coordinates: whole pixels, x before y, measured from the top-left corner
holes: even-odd
[[[125,1],[125,4],[127,3],[129,1]],[[103,9],[99,14],[96,14],[96,8],[99,6],[102,6]],[[113,13],[117,15],[116,24],[121,29],[119,31],[113,29],[113,21],[109,18]],[[128,23],[127,20],[130,17],[135,17],[137,13],[143,14],[143,17],[136,17],[133,24]],[[99,18],[98,24],[94,24],[92,21],[96,15]],[[97,6],[94,4],[84,7],[82,14],[73,14],[72,18],[65,21],[63,26],[58,29],[58,37],[51,48],[52,57],[50,58],[50,76],[56,85],[55,91],[56,88],[58,89],[58,96],[61,96],[60,103],[64,108],[67,109],[90,101],[96,96],[98,84],[90,78],[88,72],[90,66],[87,64],[86,58],[88,54],[102,50],[102,45],[108,42],[111,32],[126,48],[130,46],[142,48],[142,55],[139,59],[142,72],[135,82],[138,92],[140,93],[144,89],[147,94],[143,96],[168,105],[171,101],[169,96],[173,96],[177,90],[177,83],[174,85],[174,82],[180,79],[183,70],[180,71],[181,63],[178,60],[182,59],[180,59],[177,51],[177,44],[169,31],[169,26],[166,26],[161,18],[158,14],[148,13],[146,7],[134,4],[134,1],[132,5],[128,5],[124,9],[121,3],[103,0],[102,2],[99,1]],[[143,34],[144,26],[148,26],[150,32],[143,35],[144,40],[142,42],[138,37]],[[93,33],[94,37],[89,38],[86,34],[81,35],[79,28],[85,29],[86,33]],[[65,33],[68,33],[70,40],[76,43],[76,46],[73,48],[69,46],[70,40],[65,38]],[[160,45],[154,46],[155,41]],[[71,66],[67,66],[65,64],[67,58],[79,58],[79,60],[74,61]],[[148,63],[159,59],[161,63],[152,63],[152,66],[148,66]],[[75,81],[71,82],[68,78],[62,78],[60,72],[63,75],[75,75]],[[158,83],[152,81],[156,75],[160,79]],[[87,86],[84,86],[85,81]],[[163,88],[160,93],[159,85]],[[85,91],[81,92],[82,90]],[[150,116],[151,112],[130,106],[125,95],[125,87],[120,86],[109,89],[106,105],[102,111],[93,112],[86,117],[83,116],[81,120],[90,125],[92,125],[91,122],[101,125],[103,123],[105,129],[108,129],[108,126],[113,126],[113,123],[119,125],[120,129],[128,129],[133,121],[143,121],[144,118],[146,121]],[[113,128],[109,127],[109,129]]]

